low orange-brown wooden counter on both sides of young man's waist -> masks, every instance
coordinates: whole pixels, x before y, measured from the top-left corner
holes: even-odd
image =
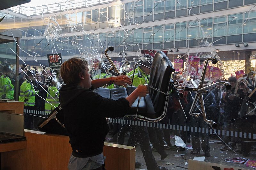
[[[38,133],[38,134],[37,134]],[[25,131],[27,148],[2,153],[2,169],[65,170],[72,149],[68,136]],[[135,147],[104,144],[107,170],[134,170]]]

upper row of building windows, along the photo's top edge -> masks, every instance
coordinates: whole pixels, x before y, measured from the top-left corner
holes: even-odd
[[[57,16],[56,20],[62,28],[62,33],[79,32],[116,27],[120,24],[132,25],[154,20],[177,18],[248,4],[255,4],[255,0],[180,0],[179,2],[144,0],[84,12],[70,12],[69,14]],[[0,12],[0,18],[4,15],[5,13]],[[48,22],[49,18],[43,18],[43,21],[42,18],[27,20],[9,14],[0,23],[0,27],[25,28],[31,26],[36,30],[42,30],[40,32],[44,32]],[[40,32],[33,28],[28,30],[28,35],[37,36],[40,34]]]

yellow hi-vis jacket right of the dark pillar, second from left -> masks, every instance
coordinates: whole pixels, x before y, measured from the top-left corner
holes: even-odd
[[[20,86],[19,102],[24,102],[24,106],[35,106],[36,92],[29,81],[24,81]]]

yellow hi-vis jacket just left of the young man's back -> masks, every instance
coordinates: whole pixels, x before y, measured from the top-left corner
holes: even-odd
[[[44,111],[46,115],[49,115],[52,112],[52,110],[58,106],[59,106],[59,90],[55,86],[49,86],[47,95],[46,95],[45,105],[44,105]]]

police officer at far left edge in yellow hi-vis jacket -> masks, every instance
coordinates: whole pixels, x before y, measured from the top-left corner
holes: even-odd
[[[14,100],[14,86],[10,79],[11,66],[5,65],[3,75],[0,77],[0,98]]]

